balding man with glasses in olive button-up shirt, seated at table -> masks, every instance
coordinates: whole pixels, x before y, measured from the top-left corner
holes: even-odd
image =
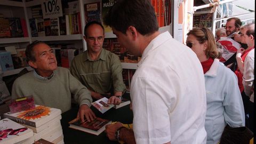
[[[100,22],[87,23],[84,27],[87,50],[73,59],[70,72],[91,91],[94,100],[112,94],[108,102],[119,105],[125,92],[123,69],[117,55],[102,49],[104,37]]]

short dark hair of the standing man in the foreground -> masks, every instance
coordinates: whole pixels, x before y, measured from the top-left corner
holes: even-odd
[[[129,26],[135,27],[141,35],[153,34],[158,30],[154,7],[149,0],[119,0],[103,18],[105,25],[126,34]]]

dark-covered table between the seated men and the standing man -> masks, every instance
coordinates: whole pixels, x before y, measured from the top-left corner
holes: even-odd
[[[109,119],[112,122],[118,121],[125,124],[132,123],[133,113],[132,113],[132,110],[130,110],[129,105],[119,109],[111,108],[104,114],[101,114],[100,111],[95,109],[93,106],[91,107],[91,109],[93,110],[94,114],[97,117]],[[77,111],[78,111],[78,107],[73,107],[72,109],[61,114],[62,116],[61,126],[62,126],[63,135],[64,135],[64,142],[66,144],[118,143],[117,141],[110,141],[106,136],[105,132],[102,132],[100,135],[93,135],[90,133],[69,128],[68,122],[76,118]]]

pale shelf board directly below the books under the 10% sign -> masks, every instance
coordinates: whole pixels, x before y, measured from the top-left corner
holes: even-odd
[[[32,41],[69,41],[69,40],[82,40],[82,34],[77,35],[62,35],[62,36],[43,36],[43,37],[32,37]]]

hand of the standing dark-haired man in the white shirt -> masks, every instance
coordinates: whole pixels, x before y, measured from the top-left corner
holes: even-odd
[[[109,140],[116,140],[115,133],[116,133],[117,129],[119,129],[122,126],[123,126],[123,124],[120,122],[117,122],[115,124],[106,125],[105,132],[107,133],[107,137],[109,138]]]

